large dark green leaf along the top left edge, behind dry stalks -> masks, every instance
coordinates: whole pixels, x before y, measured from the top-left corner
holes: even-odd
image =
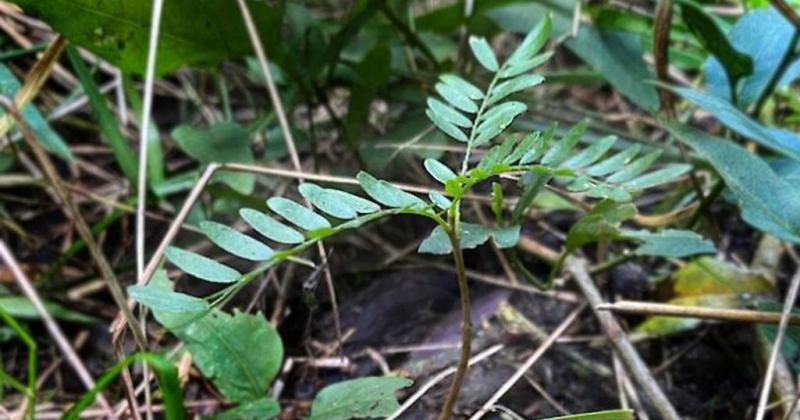
[[[143,74],[152,2],[133,0],[15,0],[71,43],[86,48],[126,73]],[[248,1],[266,45],[275,45],[283,10]],[[156,71],[183,65],[214,65],[252,54],[241,11],[228,0],[164,2]]]

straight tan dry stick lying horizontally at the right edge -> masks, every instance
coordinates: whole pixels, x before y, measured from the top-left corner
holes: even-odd
[[[754,324],[777,324],[780,312],[763,312],[748,309],[709,308],[704,306],[681,306],[668,303],[651,303],[622,300],[614,303],[596,305],[598,311],[612,311],[626,314],[676,316],[685,318],[711,319],[716,321],[747,322]],[[791,325],[800,325],[800,315],[789,317]]]

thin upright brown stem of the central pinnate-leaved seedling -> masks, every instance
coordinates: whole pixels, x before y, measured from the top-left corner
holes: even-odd
[[[453,245],[453,262],[456,266],[456,276],[458,277],[458,294],[461,300],[461,354],[458,359],[458,366],[453,375],[453,382],[450,391],[447,393],[442,411],[439,413],[438,420],[449,420],[453,415],[453,407],[458,401],[458,394],[461,392],[461,385],[467,374],[469,357],[472,346],[472,316],[470,314],[469,302],[469,283],[467,281],[467,269],[464,265],[464,253],[461,251],[461,200],[454,200],[448,212],[448,224],[450,226],[450,243]]]

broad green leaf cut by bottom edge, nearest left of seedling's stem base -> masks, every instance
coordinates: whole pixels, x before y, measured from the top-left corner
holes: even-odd
[[[400,408],[395,392],[411,383],[405,378],[384,376],[329,385],[314,398],[309,420],[388,417]]]

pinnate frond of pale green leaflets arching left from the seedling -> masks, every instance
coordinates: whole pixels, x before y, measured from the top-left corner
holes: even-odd
[[[199,279],[215,283],[240,284],[249,281],[282,261],[295,257],[320,240],[392,214],[409,213],[432,218],[444,223],[434,206],[396,186],[376,179],[372,175],[358,174],[361,188],[370,199],[333,188],[303,183],[300,195],[314,208],[308,208],[285,197],[271,197],[266,201],[269,213],[252,208],[239,211],[242,220],[264,242],[225,224],[204,221],[203,234],[221,250],[244,260],[259,263],[246,274],[198,253],[170,247],[167,260]],[[374,201],[373,201],[374,200]],[[288,245],[288,246],[287,246]]]

